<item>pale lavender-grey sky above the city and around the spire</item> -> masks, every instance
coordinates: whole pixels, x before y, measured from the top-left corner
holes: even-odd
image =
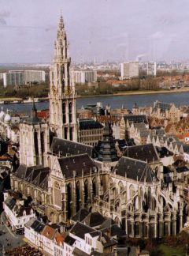
[[[63,16],[72,62],[188,61],[188,0],[0,0],[0,63],[50,63]]]

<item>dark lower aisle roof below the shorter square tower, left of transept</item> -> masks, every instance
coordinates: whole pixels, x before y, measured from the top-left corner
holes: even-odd
[[[43,190],[47,190],[49,174],[50,168],[44,168],[42,165],[27,167],[24,164],[20,164],[19,168],[13,175],[19,179],[27,181],[28,183],[32,183],[35,186],[39,186]]]

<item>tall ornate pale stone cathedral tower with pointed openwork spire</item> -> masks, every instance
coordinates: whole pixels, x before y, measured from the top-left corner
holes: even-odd
[[[70,69],[69,43],[61,17],[50,67],[50,130],[59,138],[77,141],[76,94]]]

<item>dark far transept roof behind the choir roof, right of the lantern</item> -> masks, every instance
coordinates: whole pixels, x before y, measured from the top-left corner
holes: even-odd
[[[136,160],[153,163],[159,161],[158,152],[152,143],[146,145],[134,145],[125,149],[123,156],[128,156]]]

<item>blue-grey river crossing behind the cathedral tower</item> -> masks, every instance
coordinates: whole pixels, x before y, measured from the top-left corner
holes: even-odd
[[[103,106],[110,104],[111,108],[119,108],[124,106],[125,108],[132,109],[135,103],[139,107],[143,107],[152,105],[155,100],[165,103],[174,103],[176,105],[189,105],[189,92],[78,98],[76,99],[76,108],[80,108],[82,106],[87,107],[87,104],[96,104],[97,102],[102,102]],[[0,107],[1,106],[3,107],[4,111],[6,111],[6,109],[10,109],[18,112],[29,113],[31,111],[32,104],[0,104]],[[46,109],[49,107],[49,102],[36,103],[35,106],[38,110]]]

